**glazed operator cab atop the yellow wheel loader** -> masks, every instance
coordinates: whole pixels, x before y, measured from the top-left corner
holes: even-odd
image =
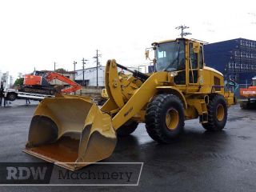
[[[186,45],[188,46],[187,49]],[[190,84],[199,83],[199,70],[202,69],[204,62],[201,43],[186,38],[177,38],[165,42],[154,42],[152,46],[154,46],[155,51],[155,71],[176,71],[178,75],[174,77],[174,82],[178,85],[186,85],[186,81]],[[188,50],[188,53],[186,53],[186,50]],[[186,61],[186,58],[189,59]],[[189,73],[187,80],[186,62]]]

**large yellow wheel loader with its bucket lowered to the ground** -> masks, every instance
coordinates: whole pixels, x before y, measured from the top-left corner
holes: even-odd
[[[206,130],[222,130],[234,94],[224,91],[220,72],[205,66],[203,43],[178,38],[152,46],[151,74],[129,70],[114,59],[106,63],[109,98],[100,109],[90,98],[45,98],[32,118],[24,151],[77,170],[108,158],[117,138],[131,134],[139,122],[160,143],[182,134],[186,119],[199,118]],[[132,75],[118,73],[118,67]]]

